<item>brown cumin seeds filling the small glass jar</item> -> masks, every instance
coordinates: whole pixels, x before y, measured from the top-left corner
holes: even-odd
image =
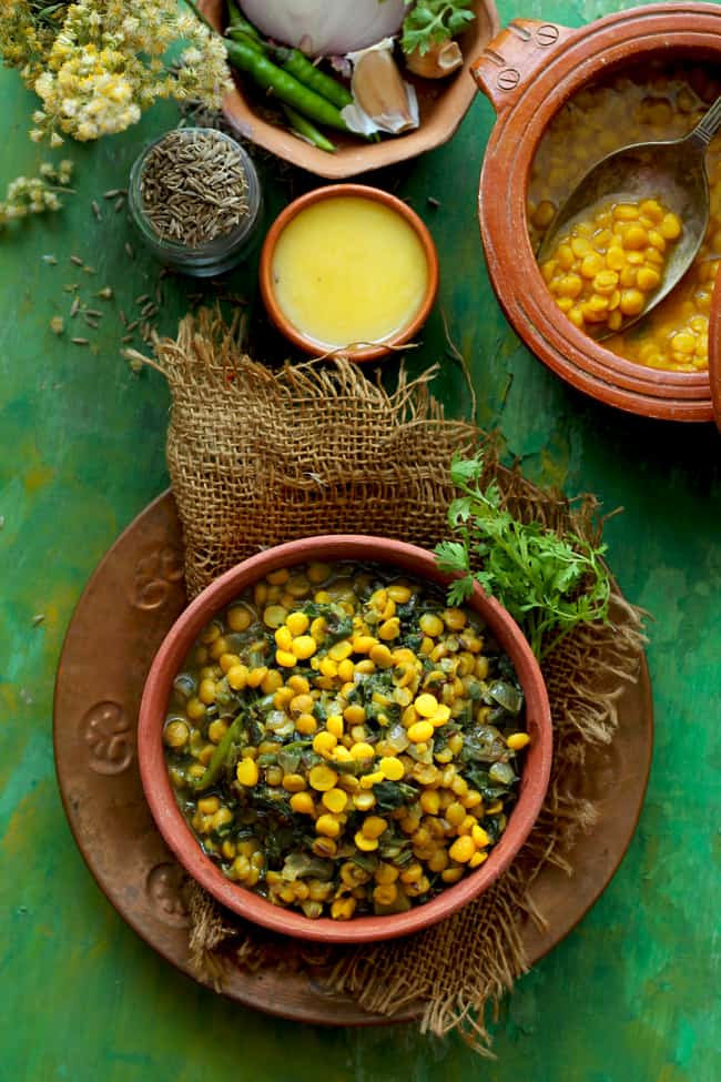
[[[143,209],[163,240],[187,247],[230,233],[248,213],[237,149],[212,130],[169,132],[148,154]]]

